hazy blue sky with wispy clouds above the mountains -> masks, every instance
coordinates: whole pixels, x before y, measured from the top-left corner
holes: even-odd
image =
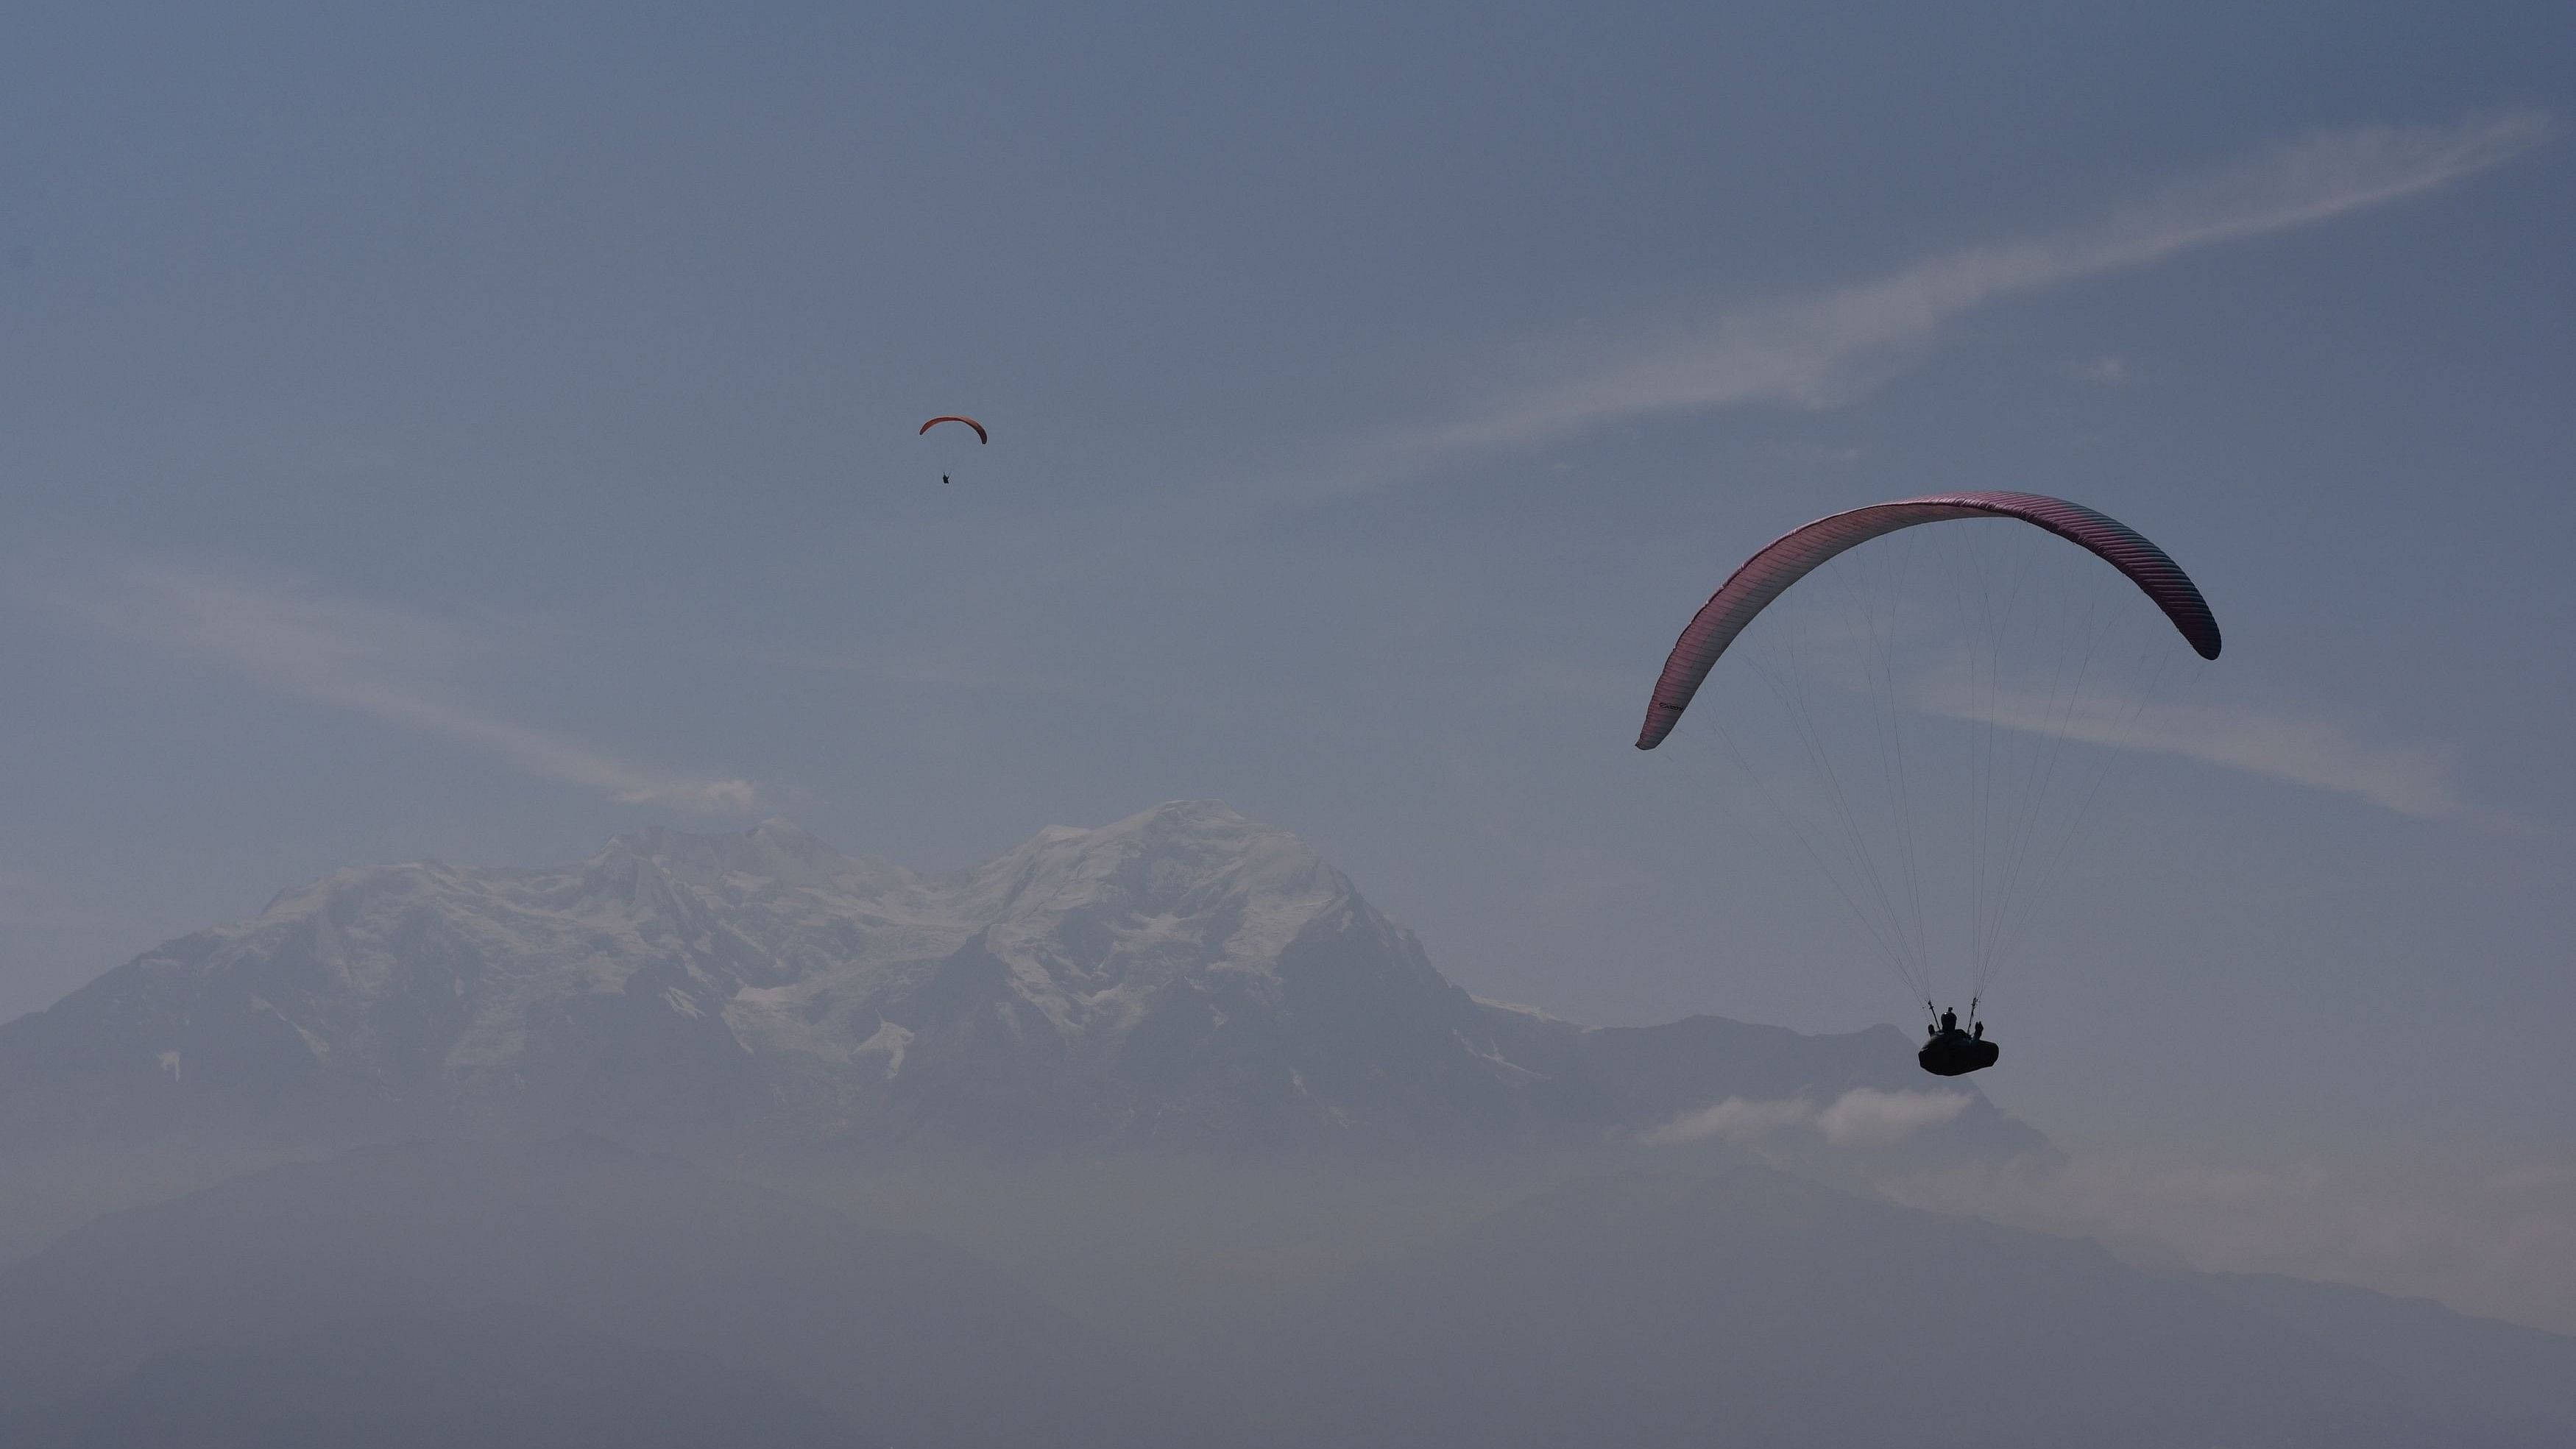
[[[1767,538],[2012,486],[2228,651],[1989,1091],[2571,1161],[2576,10],[2105,10],[21,8],[0,1014],[350,862],[1213,795],[1479,993],[1909,1022],[1631,739]]]

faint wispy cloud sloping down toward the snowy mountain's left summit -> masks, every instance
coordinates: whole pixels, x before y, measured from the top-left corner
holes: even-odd
[[[39,592],[26,579],[21,587]],[[469,638],[433,615],[330,597],[291,579],[162,561],[98,569],[77,584],[57,579],[41,595],[95,628],[484,749],[544,780],[714,816],[760,803],[750,780],[652,770],[466,705],[443,674],[471,654]]]

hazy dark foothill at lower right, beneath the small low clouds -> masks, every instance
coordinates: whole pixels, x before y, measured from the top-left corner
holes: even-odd
[[[1247,1315],[1185,1380],[1211,1403],[1262,1403],[1239,1444],[1280,1446],[2396,1449],[2576,1434],[2571,1338],[2478,1325],[2512,1351],[2458,1377],[2455,1331],[2391,1333],[2388,1313],[2378,1333],[2321,1331],[2215,1287],[1752,1163],[1631,1171],[1558,1184]]]

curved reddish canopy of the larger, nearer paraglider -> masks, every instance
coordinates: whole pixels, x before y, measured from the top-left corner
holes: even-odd
[[[1680,723],[1682,710],[1690,708],[1690,697],[1700,692],[1700,682],[1708,679],[1708,669],[1726,654],[1726,646],[1744,633],[1744,625],[1754,615],[1788,592],[1790,584],[1844,548],[1896,533],[1899,528],[1953,517],[2017,517],[2092,551],[2112,569],[2128,574],[2128,582],[2138,584],[2164,610],[2164,618],[2174,620],[2174,628],[2182,631],[2195,654],[2218,659],[2218,618],[2210,615],[2208,600],[2200,597],[2200,589],[2182,566],[2164,556],[2164,548],[2156,548],[2125,522],[2045,494],[1929,494],[1819,517],[1747,558],[1726,579],[1726,587],[1700,605],[1690,628],[1674,641],[1672,654],[1664,659],[1664,677],[1654,682],[1654,703],[1646,705],[1646,728],[1638,731],[1636,746],[1654,749],[1664,744],[1664,736]]]

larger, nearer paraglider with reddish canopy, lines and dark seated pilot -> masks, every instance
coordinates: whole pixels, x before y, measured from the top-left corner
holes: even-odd
[[[1929,494],[1821,517],[1747,558],[1674,641],[1664,672],[1654,682],[1636,746],[1656,749],[1664,744],[1718,659],[1757,615],[1801,579],[1850,548],[1947,520],[2017,520],[2089,551],[2146,595],[2192,654],[2218,659],[2218,620],[2208,600],[2200,597],[2200,587],[2128,525],[2045,494]],[[1935,945],[1950,939],[1940,934],[1942,911],[1950,911],[1963,927],[1968,981],[1984,991],[1986,973],[1996,957],[2007,955],[2020,924],[2014,898],[2038,891],[2035,880],[2063,857],[2066,839],[2092,806],[2094,790],[2084,790],[2061,811],[2066,816],[2063,834],[2058,834],[2056,818],[2043,824],[2050,793],[2069,788],[2058,770],[2063,741],[2076,736],[2102,744],[2115,741],[2117,731],[2099,723],[2115,718],[2102,710],[2099,697],[2084,700],[2084,687],[2099,685],[2099,636],[2092,631],[2105,610],[2079,610],[2071,600],[2050,610],[2048,600],[2025,597],[2027,558],[2025,569],[1996,571],[1999,577],[1986,577],[1978,569],[1942,577],[1940,564],[1914,574],[1911,558],[1917,553],[1922,551],[1896,551],[1909,571],[1901,574],[1904,584],[1886,589],[1886,597],[1862,597],[1862,589],[1850,582],[1850,566],[1837,569],[1844,574],[1839,595],[1844,613],[1832,615],[1826,607],[1829,618],[1811,620],[1824,628],[1775,625],[1767,641],[1772,654],[1757,651],[1749,669],[1780,703],[1783,749],[1793,746],[1793,754],[1803,757],[1816,777],[1819,803],[1806,816],[1790,808],[1780,808],[1780,813],[1801,834],[1808,857],[1842,893],[1852,916],[1868,929],[1873,947],[1929,1011],[1935,960],[1953,955]],[[2045,553],[2045,548],[2035,553]],[[1868,558],[1860,577],[1870,577]],[[1929,587],[1927,577],[1963,595],[1960,607],[1968,628],[1958,638],[1940,641],[1937,631],[1927,628],[1935,610],[1927,607],[1924,597],[1904,595],[1906,587]],[[2089,579],[2099,579],[2099,574],[2089,574]],[[2087,587],[2094,584],[2087,582]],[[1837,595],[1826,592],[1821,602],[1832,605]],[[1999,602],[2002,607],[1996,607]],[[2099,605],[2099,600],[2094,602]],[[2120,610],[2107,613],[2117,615]],[[2032,620],[2032,615],[2038,618]],[[2020,697],[2002,685],[2007,669],[1999,638],[2007,631],[2020,638],[2020,631],[2048,625],[2081,633],[2056,654],[2040,651],[2032,661],[2035,687],[2030,697]],[[2164,646],[2154,646],[2156,654],[2174,654],[2172,636],[2164,638]],[[1816,654],[1834,643],[1860,651],[1857,661],[1839,672],[1821,667]],[[1947,643],[1947,654],[1927,649],[1927,643]],[[1984,643],[1984,656],[1978,656],[1976,643]],[[1950,674],[1940,674],[1942,667]],[[1947,687],[1947,692],[1935,685]],[[1728,690],[1728,697],[1734,695],[1739,692]],[[2141,692],[2136,708],[2143,708],[2143,697]],[[1832,739],[1837,710],[1852,721],[1847,739]],[[1965,726],[1963,731],[1953,726],[1953,734],[1963,736],[1958,770],[1937,780],[1922,777],[1924,734],[1937,731],[1937,726],[1909,726],[1909,715]],[[2136,710],[2128,718],[2136,718]],[[1978,726],[1984,734],[1976,734]],[[1718,721],[1713,728],[1741,759],[1741,746],[1726,723]],[[2014,775],[2002,764],[2004,752],[1996,741],[2004,736],[2038,741],[2027,770]],[[1844,749],[1837,754],[1837,746]],[[1770,780],[1762,772],[1757,772],[1757,782],[1770,793]],[[1927,831],[1924,800],[1960,785],[1968,803],[1960,813],[1958,839],[1940,842],[1950,849],[1929,849],[1919,839],[1935,834]],[[2014,785],[2014,790],[2004,790],[2004,785]],[[1870,788],[1886,793],[1875,811],[1873,800],[1855,798]],[[2094,788],[2099,788],[2099,777],[2094,777]],[[1772,803],[1780,806],[1777,798]],[[1940,867],[1958,872],[1958,885],[1947,893],[1937,880]],[[2002,1050],[1986,1040],[1986,1024],[1973,1017],[1976,999],[1971,999],[1968,1029],[1960,1029],[1955,1011],[1942,1011],[1927,1027],[1917,1063],[1935,1076],[1965,1076],[1994,1066]]]

